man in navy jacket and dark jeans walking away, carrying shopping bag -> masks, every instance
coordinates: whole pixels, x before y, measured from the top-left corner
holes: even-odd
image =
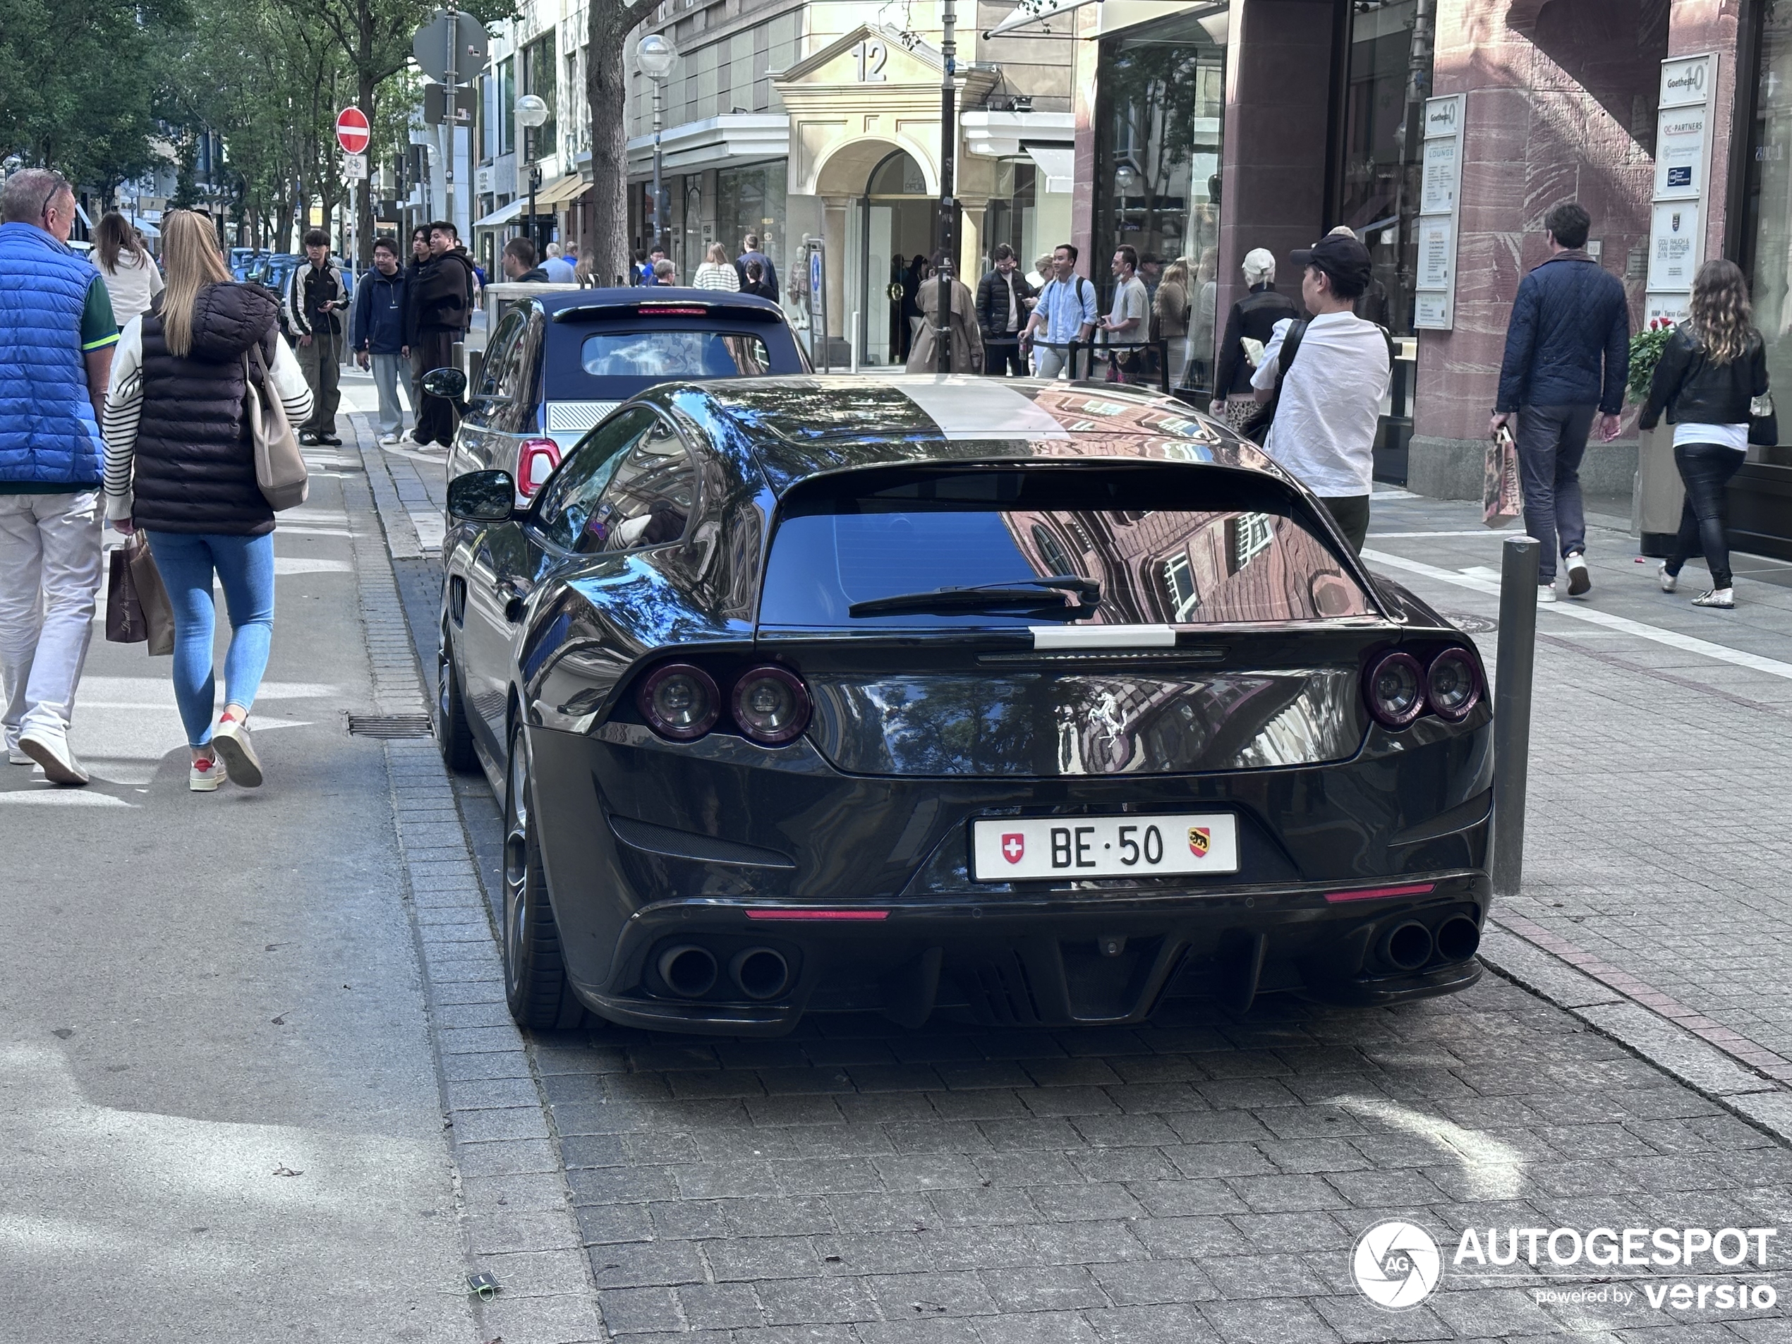
[[[1555,600],[1555,556],[1568,570],[1568,597],[1593,586],[1586,568],[1581,457],[1598,416],[1598,437],[1618,435],[1624,383],[1631,373],[1631,308],[1624,283],[1586,253],[1591,219],[1573,201],[1543,220],[1550,260],[1518,287],[1505,328],[1500,400],[1487,425],[1498,434],[1518,418],[1518,470],[1525,530],[1538,559],[1538,600]],[[1559,552],[1557,552],[1559,547]]]

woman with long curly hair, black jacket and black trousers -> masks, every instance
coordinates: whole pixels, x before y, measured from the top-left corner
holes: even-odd
[[[1674,426],[1674,466],[1686,482],[1674,552],[1661,561],[1661,591],[1679,586],[1686,557],[1702,548],[1711,588],[1695,607],[1736,604],[1724,538],[1724,487],[1749,448],[1749,403],[1767,394],[1767,346],[1754,330],[1749,281],[1742,267],[1706,262],[1692,283],[1692,303],[1656,364],[1641,426],[1652,430],[1667,410]]]

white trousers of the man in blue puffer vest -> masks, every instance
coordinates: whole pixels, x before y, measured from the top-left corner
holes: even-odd
[[[0,486],[4,489],[4,486]],[[0,495],[0,728],[61,740],[93,638],[100,498]]]

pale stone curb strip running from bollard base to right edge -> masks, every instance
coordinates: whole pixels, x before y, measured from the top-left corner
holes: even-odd
[[[1792,1090],[1760,1073],[1744,1059],[1570,966],[1496,919],[1487,921],[1480,959],[1520,989],[1579,1018],[1676,1082],[1722,1106],[1778,1143],[1792,1147]]]

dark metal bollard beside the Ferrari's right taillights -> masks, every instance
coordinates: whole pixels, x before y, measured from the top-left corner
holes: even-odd
[[[1530,769],[1530,683],[1538,654],[1534,538],[1505,539],[1500,559],[1498,685],[1493,692],[1493,894],[1516,896],[1525,871],[1525,776]]]

